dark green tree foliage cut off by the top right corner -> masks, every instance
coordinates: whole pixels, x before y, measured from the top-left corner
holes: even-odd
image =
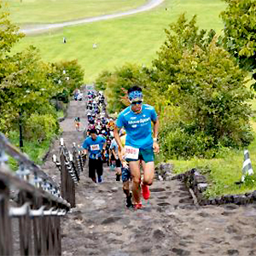
[[[224,0],[227,8],[221,13],[224,20],[224,43],[240,67],[256,68],[256,2],[254,0]],[[254,74],[256,79],[256,74]],[[255,86],[254,86],[255,87]]]

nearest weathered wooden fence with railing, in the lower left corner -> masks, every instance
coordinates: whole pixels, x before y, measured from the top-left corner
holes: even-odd
[[[8,156],[17,161],[16,172]],[[13,218],[19,221],[20,255],[61,255],[60,217],[70,207],[59,186],[0,133],[0,255],[14,254]]]

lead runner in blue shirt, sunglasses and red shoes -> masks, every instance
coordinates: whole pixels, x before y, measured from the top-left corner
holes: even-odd
[[[140,184],[143,189],[143,198],[148,200],[150,191],[148,186],[154,179],[154,152],[159,153],[157,143],[159,120],[152,106],[143,104],[143,92],[138,86],[128,90],[131,105],[125,108],[116,121],[113,135],[121,148],[121,155],[129,163],[132,176],[132,195],[137,208],[142,207]],[[152,125],[154,124],[153,137]],[[119,137],[119,128],[125,127],[125,148]],[[143,181],[141,182],[140,160],[143,160]]]

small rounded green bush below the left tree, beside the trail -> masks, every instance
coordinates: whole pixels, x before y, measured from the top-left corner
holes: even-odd
[[[58,131],[56,119],[51,114],[33,113],[26,119],[24,137],[28,140],[43,142]]]

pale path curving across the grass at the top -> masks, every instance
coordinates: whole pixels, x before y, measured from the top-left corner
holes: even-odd
[[[126,15],[134,15],[137,13],[148,11],[149,9],[154,9],[164,1],[165,0],[149,0],[148,3],[144,4],[141,7],[138,7],[137,9],[131,9],[131,10],[121,12],[121,13],[116,13],[113,15],[101,15],[97,17],[82,19],[82,20],[71,20],[71,21],[55,23],[55,24],[35,25],[35,26],[30,26],[29,28],[20,29],[20,32],[24,32],[26,34],[33,34],[38,32],[46,32],[50,29],[62,28],[64,26],[74,26],[74,25],[80,25],[84,23],[96,22],[100,20],[109,20],[113,18],[119,18]]]

